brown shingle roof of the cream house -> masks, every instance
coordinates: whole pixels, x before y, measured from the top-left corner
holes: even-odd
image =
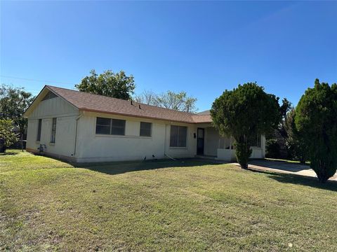
[[[134,116],[140,118],[153,118],[159,120],[170,120],[182,123],[211,123],[211,116],[197,115],[172,109],[159,108],[140,104],[123,99],[105,97],[98,94],[68,90],[62,87],[47,85],[49,90],[70,102],[81,111],[93,111],[99,113],[110,113],[123,116]]]

